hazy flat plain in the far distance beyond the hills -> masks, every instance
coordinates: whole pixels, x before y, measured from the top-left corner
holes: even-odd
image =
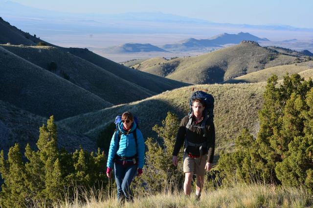
[[[228,31],[227,31],[228,32]],[[279,31],[275,31],[279,33]],[[298,40],[283,42],[278,40],[278,38],[273,36],[273,34],[268,36],[261,36],[265,38],[269,38],[268,42],[260,42],[261,46],[280,46],[289,48],[292,50],[309,50],[313,52],[313,34],[312,39],[310,40],[309,34],[298,34],[297,32],[291,32],[289,37],[285,38],[298,38]],[[303,33],[303,32],[302,32]],[[217,33],[218,34],[218,33]],[[46,35],[45,40],[59,45],[63,47],[79,47],[79,48],[88,48],[90,51],[111,59],[115,62],[123,62],[131,59],[141,59],[141,58],[153,58],[153,57],[188,57],[188,56],[197,56],[204,53],[209,53],[212,50],[216,50],[218,48],[210,47],[201,49],[198,51],[175,51],[175,52],[141,52],[141,53],[123,53],[123,54],[108,54],[104,51],[104,48],[110,46],[117,46],[124,43],[151,43],[156,46],[161,46],[169,43],[177,43],[183,39],[187,38],[196,38],[196,39],[206,39],[211,37],[210,35],[195,35],[195,34],[124,34],[124,33],[104,33],[104,34],[54,34]],[[272,38],[273,39],[272,39]],[[302,39],[301,39],[302,38]],[[231,45],[231,44],[230,44]],[[227,46],[230,46],[227,45]]]

